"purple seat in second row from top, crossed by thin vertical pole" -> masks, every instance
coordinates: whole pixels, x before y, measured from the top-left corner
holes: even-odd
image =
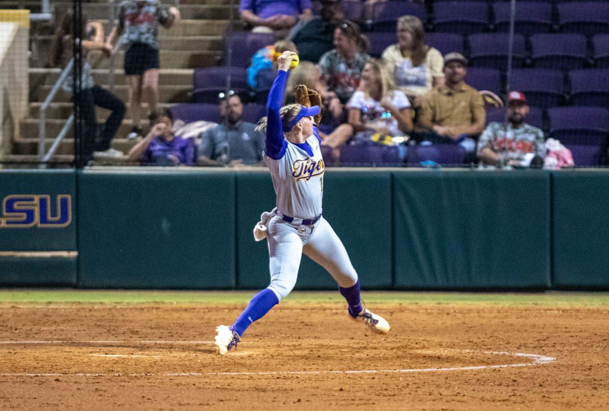
[[[470,65],[496,68],[505,71],[509,54],[509,35],[506,33],[482,33],[468,37],[470,44]],[[514,36],[512,67],[523,66],[526,57],[524,36]]]

